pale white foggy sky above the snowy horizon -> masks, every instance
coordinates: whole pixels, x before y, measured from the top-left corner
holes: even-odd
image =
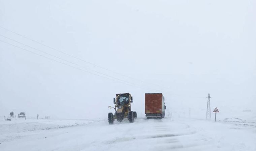
[[[255,110],[255,10],[253,0],[0,0],[0,116],[107,118],[127,92],[138,116],[145,93],[163,93],[177,115],[205,117],[208,93],[212,109]]]

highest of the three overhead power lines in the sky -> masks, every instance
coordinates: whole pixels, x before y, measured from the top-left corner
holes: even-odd
[[[94,65],[94,66],[96,66],[96,67],[99,67],[99,68],[101,68],[101,69],[107,70],[107,71],[109,71],[109,72],[113,72],[113,73],[115,73],[115,74],[122,75],[122,76],[127,77],[127,78],[130,78],[130,79],[134,79],[134,80],[140,81],[140,82],[145,83],[145,84],[149,84],[149,83],[146,83],[146,82],[144,82],[144,81],[142,81],[142,80],[139,80],[139,79],[136,79],[136,78],[127,76],[127,75],[125,75],[125,74],[121,74],[121,73],[119,73],[119,72],[116,72],[116,71],[107,69],[107,68],[105,68],[105,67],[101,67],[101,66],[99,66],[99,65],[96,65],[96,64],[91,63],[91,62],[89,62],[89,61],[86,61],[86,60],[84,60],[84,59],[75,57],[75,56],[73,56],[73,55],[70,55],[70,54],[65,53],[65,52],[63,52],[63,51],[60,51],[60,50],[55,49],[55,48],[53,48],[53,47],[47,46],[47,45],[45,45],[45,44],[43,44],[43,43],[40,43],[40,42],[38,42],[38,41],[35,41],[35,40],[33,40],[33,39],[31,39],[31,38],[28,38],[28,37],[26,37],[26,36],[23,36],[23,35],[21,35],[21,34],[19,34],[19,33],[13,32],[13,31],[11,31],[11,30],[9,30],[9,29],[6,29],[6,28],[4,28],[4,27],[1,27],[1,26],[0,26],[0,28],[4,29],[4,30],[6,30],[6,31],[9,31],[9,32],[11,32],[11,33],[14,33],[14,34],[16,34],[16,35],[19,35],[19,36],[21,36],[21,37],[23,37],[23,38],[25,38],[25,39],[31,40],[31,41],[33,41],[33,42],[36,42],[36,43],[38,43],[38,44],[40,44],[40,45],[43,45],[43,46],[45,46],[45,47],[47,47],[47,48],[50,48],[50,49],[52,49],[52,50],[58,51],[58,52],[60,52],[60,53],[62,53],[62,54],[65,54],[65,55],[67,55],[67,56],[70,56],[70,57],[72,57],[72,58],[78,59],[78,60],[80,60],[80,61],[83,61],[83,62],[86,62],[86,63],[88,63],[88,64]],[[150,85],[155,85],[155,86],[161,87],[161,86],[156,85],[156,84],[150,84]]]

